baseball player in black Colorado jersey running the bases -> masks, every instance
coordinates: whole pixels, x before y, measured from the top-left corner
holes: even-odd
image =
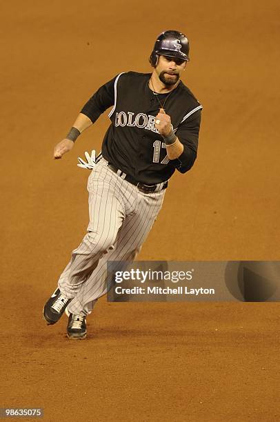
[[[83,106],[54,159],[72,150],[77,137],[112,106],[101,153],[86,154],[90,221],[85,237],[43,308],[48,324],[66,310],[70,339],[86,337],[86,316],[106,294],[107,261],[131,262],[161,210],[168,180],[188,172],[197,157],[202,106],[180,77],[189,61],[181,32],[159,34],[150,54],[152,73],[123,72]],[[94,165],[91,161],[94,161]]]

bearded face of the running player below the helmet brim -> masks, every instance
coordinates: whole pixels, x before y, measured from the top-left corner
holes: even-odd
[[[186,61],[177,57],[159,56],[155,70],[161,82],[170,86],[177,83],[185,67]]]

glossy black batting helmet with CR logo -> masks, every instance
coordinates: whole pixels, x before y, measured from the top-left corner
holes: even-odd
[[[154,43],[154,50],[150,55],[150,63],[157,66],[160,56],[177,57],[178,59],[189,61],[190,43],[186,35],[182,32],[168,30],[161,32]]]

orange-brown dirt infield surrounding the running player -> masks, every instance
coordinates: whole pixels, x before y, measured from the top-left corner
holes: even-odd
[[[41,310],[88,225],[85,150],[52,160],[88,98],[150,72],[162,30],[190,38],[203,104],[194,168],[177,172],[139,260],[280,260],[278,1],[1,5],[0,407],[46,421],[279,421],[278,303],[107,303],[69,341]],[[34,420],[34,419],[30,419]]]

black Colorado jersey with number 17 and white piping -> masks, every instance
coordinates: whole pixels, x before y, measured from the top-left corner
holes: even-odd
[[[150,77],[150,73],[137,72],[117,75],[95,92],[81,113],[94,123],[113,106],[108,114],[112,123],[101,148],[103,157],[137,181],[154,184],[170,179],[176,169],[185,173],[192,168],[197,157],[202,106],[182,81],[172,92],[158,94],[161,103],[166,98],[164,109],[183,143],[180,157],[168,159],[166,144],[154,125],[160,106],[148,86]]]

